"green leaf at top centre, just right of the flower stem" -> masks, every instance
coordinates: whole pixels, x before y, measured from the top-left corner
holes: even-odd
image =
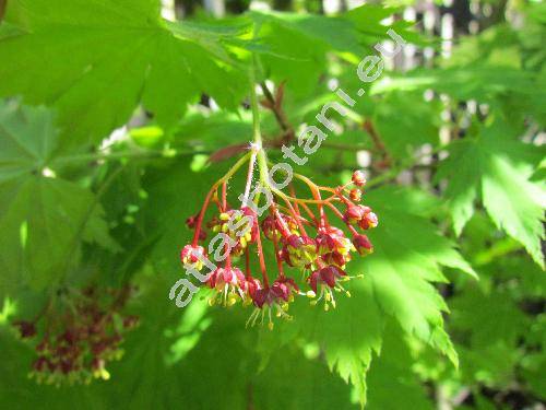
[[[334,52],[352,65],[375,54],[373,46],[394,28],[407,42],[418,40],[407,23],[383,24],[395,9],[364,4],[346,13],[325,16],[305,13],[252,12],[258,30],[256,49],[268,78],[286,81],[287,90],[308,96],[327,69],[327,54]],[[356,66],[354,68],[356,70]],[[355,75],[356,77],[356,75]]]

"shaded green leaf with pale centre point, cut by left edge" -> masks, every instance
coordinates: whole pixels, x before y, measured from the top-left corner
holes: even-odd
[[[57,142],[50,110],[0,102],[2,293],[62,278],[82,238],[117,249],[93,192],[45,176]]]

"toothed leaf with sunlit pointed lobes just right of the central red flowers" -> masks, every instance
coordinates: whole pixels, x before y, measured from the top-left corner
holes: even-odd
[[[369,233],[375,253],[356,269],[370,278],[377,303],[404,331],[456,364],[456,353],[443,330],[442,312],[448,308],[432,284],[446,281],[442,266],[471,276],[475,272],[454,244],[423,216],[430,209],[426,201],[434,199],[392,187],[373,190],[365,198],[378,213],[380,225]]]

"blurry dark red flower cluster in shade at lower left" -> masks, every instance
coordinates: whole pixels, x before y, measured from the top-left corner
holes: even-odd
[[[19,336],[35,342],[37,359],[29,376],[37,383],[57,386],[108,379],[107,363],[121,358],[123,333],[139,323],[136,316],[118,312],[130,291],[129,286],[110,291],[111,302],[106,306],[99,303],[95,288],[72,291],[62,295],[62,313],[49,303],[35,320],[14,321]],[[43,336],[36,340],[41,323]]]

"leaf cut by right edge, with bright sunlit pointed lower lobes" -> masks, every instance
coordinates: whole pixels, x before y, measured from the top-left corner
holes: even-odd
[[[446,196],[455,232],[461,233],[480,198],[495,224],[543,265],[546,196],[543,184],[530,180],[537,160],[536,148],[519,142],[498,120],[455,144],[438,173],[438,178],[448,178]]]

